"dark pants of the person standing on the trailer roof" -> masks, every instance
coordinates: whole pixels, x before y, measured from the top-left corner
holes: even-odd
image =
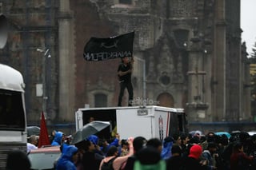
[[[119,92],[119,97],[118,97],[118,106],[122,106],[122,97],[123,97],[123,93],[125,92],[126,88],[127,88],[128,94],[129,94],[128,106],[132,106],[133,99],[134,99],[133,85],[131,84],[131,82],[125,82],[125,81],[122,81],[119,84],[120,84],[120,92]]]

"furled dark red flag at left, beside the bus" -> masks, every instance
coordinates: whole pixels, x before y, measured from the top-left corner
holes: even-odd
[[[46,128],[45,116],[44,116],[44,113],[42,112],[38,148],[41,148],[43,145],[50,145],[50,140],[49,140],[48,131]]]

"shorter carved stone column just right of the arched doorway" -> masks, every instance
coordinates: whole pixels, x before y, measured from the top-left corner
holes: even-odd
[[[203,101],[204,97],[204,76],[206,71],[203,69],[203,57],[205,50],[202,47],[202,39],[197,35],[190,40],[192,44],[189,47],[189,70],[188,70],[188,117],[190,122],[205,121],[206,109],[208,104]]]

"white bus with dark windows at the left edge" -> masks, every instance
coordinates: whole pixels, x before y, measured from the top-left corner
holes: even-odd
[[[25,84],[18,70],[0,63],[0,169],[6,167],[7,152],[26,152]]]

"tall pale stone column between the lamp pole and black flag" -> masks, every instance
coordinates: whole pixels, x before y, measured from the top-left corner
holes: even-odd
[[[60,1],[58,14],[59,112],[58,121],[74,121],[74,38],[70,1]]]

